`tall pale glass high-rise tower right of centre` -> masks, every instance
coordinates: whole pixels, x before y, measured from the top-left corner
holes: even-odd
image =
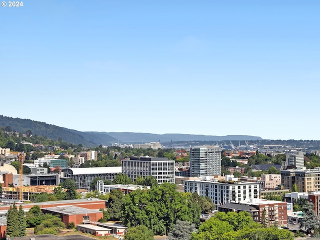
[[[221,175],[221,149],[218,146],[190,148],[190,176]]]

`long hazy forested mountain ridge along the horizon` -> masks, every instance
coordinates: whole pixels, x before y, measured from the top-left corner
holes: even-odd
[[[82,144],[83,146],[92,147],[97,145],[110,145],[114,142],[140,143],[150,141],[218,141],[218,140],[262,140],[259,136],[249,135],[226,135],[226,136],[212,136],[212,135],[193,135],[180,133],[165,133],[153,134],[142,132],[97,132],[97,131],[77,131],[61,126],[47,124],[45,122],[34,121],[30,119],[13,118],[0,115],[0,126],[3,128],[11,126],[11,128],[18,132],[25,132],[31,130],[32,134],[45,136],[47,138],[57,140],[59,137],[63,141]]]

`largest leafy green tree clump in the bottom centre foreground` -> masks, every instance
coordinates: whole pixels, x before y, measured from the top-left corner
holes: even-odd
[[[156,234],[164,234],[177,219],[197,224],[199,216],[200,208],[190,193],[177,192],[175,184],[164,182],[123,196],[122,220],[129,227],[143,224]]]

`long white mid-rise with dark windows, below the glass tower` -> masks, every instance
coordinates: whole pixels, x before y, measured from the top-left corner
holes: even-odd
[[[259,184],[256,182],[235,182],[223,180],[185,180],[184,192],[196,192],[208,196],[215,205],[226,202],[239,202],[259,197]]]

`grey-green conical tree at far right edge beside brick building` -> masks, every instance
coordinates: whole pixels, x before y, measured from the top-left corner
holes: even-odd
[[[314,204],[312,202],[305,202],[305,205],[301,209],[303,213],[300,220],[300,229],[308,233],[312,233],[320,225],[313,208]]]

